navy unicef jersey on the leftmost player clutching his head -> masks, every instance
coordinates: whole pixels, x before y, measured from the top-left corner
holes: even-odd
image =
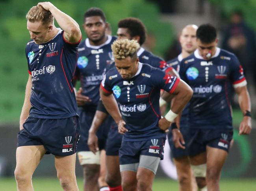
[[[72,79],[78,58],[78,43],[71,44],[64,31],[49,42],[26,46],[28,73],[32,75],[30,117],[59,119],[78,115]],[[82,39],[82,38],[81,38]]]

